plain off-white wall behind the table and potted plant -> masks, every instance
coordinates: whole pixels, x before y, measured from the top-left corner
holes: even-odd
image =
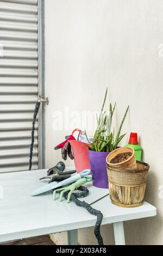
[[[157,217],[125,224],[127,244],[163,244],[163,1],[46,0],[45,9],[47,167],[60,160],[53,147],[70,132],[53,130],[54,111],[98,110],[108,87],[117,101],[115,121],[130,105],[123,130],[140,135],[143,160],[151,165],[148,202],[158,208]],[[114,243],[111,225],[102,235],[105,244]],[[96,244],[92,229],[79,231],[79,243]]]

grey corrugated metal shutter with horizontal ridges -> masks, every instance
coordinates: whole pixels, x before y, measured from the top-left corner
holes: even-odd
[[[29,166],[39,93],[38,29],[37,0],[0,1],[0,172],[27,170]],[[37,138],[38,124],[33,169],[38,168]]]

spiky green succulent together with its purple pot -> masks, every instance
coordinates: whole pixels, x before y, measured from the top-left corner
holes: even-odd
[[[92,170],[93,177],[93,186],[100,188],[108,188],[108,174],[106,171],[106,157],[113,150],[118,148],[118,144],[121,142],[123,137],[126,135],[121,135],[121,129],[126,119],[126,115],[128,113],[129,106],[124,114],[122,122],[120,124],[120,128],[115,136],[115,129],[111,132],[111,124],[112,124],[112,116],[115,112],[116,103],[114,107],[112,107],[110,103],[109,111],[104,111],[104,106],[106,102],[106,97],[108,94],[108,89],[106,89],[105,98],[103,102],[103,106],[101,109],[101,113],[99,117],[97,117],[97,129],[95,131],[95,135],[93,136],[93,141],[90,142],[87,138],[89,145],[88,154],[89,161]],[[86,135],[86,131],[85,131]],[[87,135],[86,135],[87,137]]]

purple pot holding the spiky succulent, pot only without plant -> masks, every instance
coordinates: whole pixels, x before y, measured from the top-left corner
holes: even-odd
[[[92,171],[93,186],[108,188],[108,174],[106,170],[106,157],[109,152],[96,152],[88,150]]]

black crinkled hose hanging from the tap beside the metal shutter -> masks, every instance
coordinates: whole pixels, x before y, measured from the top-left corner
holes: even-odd
[[[33,146],[34,146],[34,141],[35,141],[35,139],[34,139],[35,123],[36,123],[37,114],[39,112],[39,108],[40,108],[40,102],[37,102],[36,106],[35,106],[35,112],[34,112],[33,124],[32,124],[32,143],[30,145],[29,170],[32,169]]]

